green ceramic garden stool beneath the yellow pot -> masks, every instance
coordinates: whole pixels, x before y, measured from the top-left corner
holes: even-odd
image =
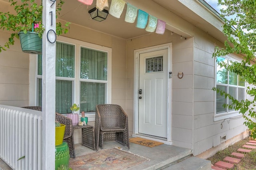
[[[68,165],[69,158],[70,155],[67,142],[63,142],[62,144],[55,146],[55,170],[60,165]]]

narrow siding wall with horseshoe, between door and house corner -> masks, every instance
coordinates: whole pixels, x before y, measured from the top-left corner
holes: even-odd
[[[172,144],[192,149],[193,38],[174,38],[172,51]],[[182,79],[178,72],[183,72]]]

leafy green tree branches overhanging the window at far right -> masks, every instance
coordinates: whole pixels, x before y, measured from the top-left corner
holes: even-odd
[[[213,90],[232,101],[232,103],[224,104],[223,107],[240,111],[245,119],[244,125],[252,130],[252,138],[256,138],[256,123],[254,121],[256,119],[254,111],[256,106],[256,88],[254,87],[256,86],[256,1],[218,0],[218,4],[226,6],[221,10],[221,17],[225,22],[222,32],[227,37],[227,41],[224,42],[224,48],[215,47],[213,57],[216,58],[220,67],[240,75],[246,83],[250,84],[246,93],[252,99],[238,100],[216,87]],[[218,62],[218,57],[224,57],[230,53],[241,54],[242,61]]]

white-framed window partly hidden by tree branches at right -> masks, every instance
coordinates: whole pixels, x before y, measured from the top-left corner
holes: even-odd
[[[224,61],[225,63],[228,63],[228,64],[230,63],[230,59],[227,59],[224,57],[218,57],[217,60]],[[238,99],[239,101],[245,99],[244,79],[241,76],[237,75],[236,73],[232,73],[231,71],[228,71],[224,67],[220,67],[220,65],[218,64],[216,64],[216,67],[217,67],[216,69],[217,89],[225,91],[226,93],[230,94],[232,97]],[[230,105],[232,104],[232,101],[228,99],[228,97],[225,98],[225,95],[220,95],[220,92],[216,92],[216,115],[217,116],[238,113],[234,109],[223,107],[224,104]]]

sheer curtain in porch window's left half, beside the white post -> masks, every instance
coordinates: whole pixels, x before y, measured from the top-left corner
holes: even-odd
[[[56,112],[71,113],[73,101],[75,46],[56,42]],[[42,55],[38,55],[38,75],[42,75]],[[63,77],[63,78],[62,78]],[[42,106],[42,79],[38,79],[38,105]]]

